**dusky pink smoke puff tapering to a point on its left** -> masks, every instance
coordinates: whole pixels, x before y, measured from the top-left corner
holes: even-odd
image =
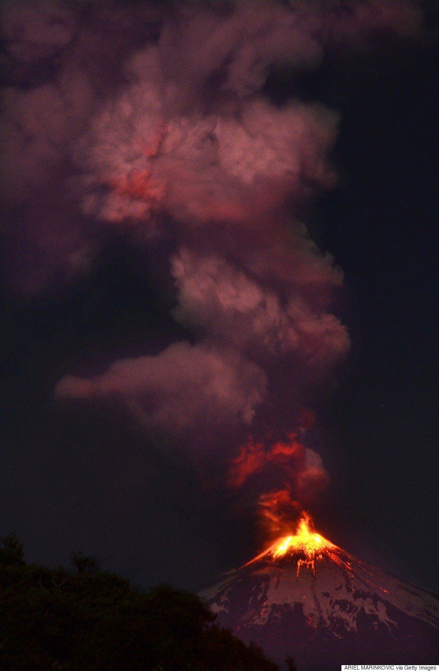
[[[66,376],[55,394],[64,400],[115,400],[145,425],[179,434],[250,425],[265,391],[262,370],[236,352],[181,342],[157,356],[117,361],[91,379]]]

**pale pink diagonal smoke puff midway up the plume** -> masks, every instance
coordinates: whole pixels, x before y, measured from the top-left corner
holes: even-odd
[[[179,321],[240,349],[299,352],[310,366],[332,366],[349,348],[346,327],[313,311],[299,293],[279,296],[224,259],[182,250],[173,260]]]

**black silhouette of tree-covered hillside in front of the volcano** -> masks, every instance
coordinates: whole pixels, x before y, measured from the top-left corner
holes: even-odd
[[[294,668],[291,666],[290,668]],[[27,564],[0,544],[1,671],[277,671],[195,595],[134,587],[75,554],[72,568]]]

